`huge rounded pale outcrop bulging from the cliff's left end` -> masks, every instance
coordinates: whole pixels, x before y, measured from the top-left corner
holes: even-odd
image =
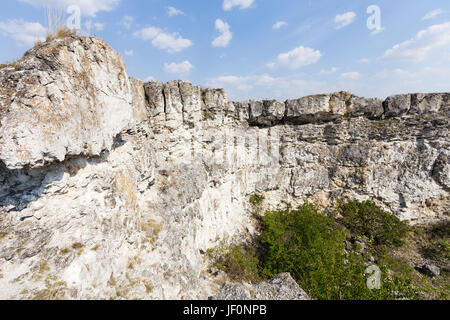
[[[9,169],[98,156],[133,120],[125,65],[101,40],[55,40],[17,64],[0,71],[0,161]]]

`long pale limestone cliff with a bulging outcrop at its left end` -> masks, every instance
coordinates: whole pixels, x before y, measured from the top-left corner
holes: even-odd
[[[205,299],[255,192],[448,219],[449,116],[448,93],[233,102],[130,78],[99,39],[41,44],[0,69],[0,298]]]

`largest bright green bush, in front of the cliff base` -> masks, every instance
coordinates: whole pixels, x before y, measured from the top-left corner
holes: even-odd
[[[263,218],[263,230],[265,275],[290,272],[315,299],[342,299],[344,287],[354,287],[354,281],[344,279],[354,275],[344,263],[345,234],[313,205],[269,211]]]

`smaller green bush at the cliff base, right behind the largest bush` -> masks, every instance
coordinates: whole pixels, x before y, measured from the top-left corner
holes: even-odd
[[[367,237],[375,246],[400,247],[410,231],[405,222],[371,201],[341,202],[338,212],[352,234]]]

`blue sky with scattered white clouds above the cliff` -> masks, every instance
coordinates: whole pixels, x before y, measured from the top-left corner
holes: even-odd
[[[71,4],[80,33],[105,39],[142,80],[224,87],[237,100],[450,89],[448,0],[9,0],[0,62],[45,36],[46,6]],[[369,29],[370,18],[380,23]]]

